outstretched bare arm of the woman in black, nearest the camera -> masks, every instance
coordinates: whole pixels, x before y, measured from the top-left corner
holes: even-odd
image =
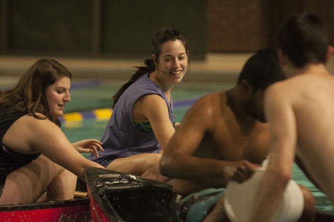
[[[18,153],[40,152],[81,179],[84,179],[86,167],[103,168],[83,157],[61,129],[47,119],[39,120],[28,115],[19,118],[10,126],[2,143]]]

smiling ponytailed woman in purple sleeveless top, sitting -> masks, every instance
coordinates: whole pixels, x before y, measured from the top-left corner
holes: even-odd
[[[188,64],[185,35],[175,28],[158,31],[152,58],[115,94],[113,114],[102,138],[103,152],[89,157],[107,169],[158,181],[163,149],[175,132],[171,89]]]

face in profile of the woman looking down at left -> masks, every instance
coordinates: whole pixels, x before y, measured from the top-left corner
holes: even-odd
[[[47,104],[52,116],[62,116],[64,114],[66,102],[71,101],[70,87],[70,79],[65,76],[46,88]]]

